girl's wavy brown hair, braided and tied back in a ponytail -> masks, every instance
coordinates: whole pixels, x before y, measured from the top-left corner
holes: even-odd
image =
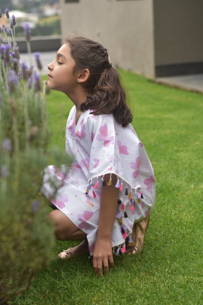
[[[94,115],[112,113],[123,127],[132,122],[132,114],[126,104],[126,94],[116,69],[109,67],[107,49],[100,43],[84,37],[66,38],[75,60],[73,74],[89,69],[88,94],[80,105],[81,111],[93,109]]]

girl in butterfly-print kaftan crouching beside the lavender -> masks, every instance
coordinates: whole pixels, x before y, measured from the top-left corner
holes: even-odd
[[[46,168],[43,194],[57,207],[48,217],[59,240],[83,240],[60,258],[90,253],[101,276],[113,267],[113,253],[140,253],[155,202],[152,165],[132,125],[119,75],[98,42],[67,39],[48,65],[47,86],[75,104],[66,126],[66,152],[72,170]],[[61,186],[55,198],[47,182]]]

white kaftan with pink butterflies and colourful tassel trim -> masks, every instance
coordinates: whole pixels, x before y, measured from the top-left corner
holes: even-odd
[[[66,152],[75,158],[72,169],[61,183],[62,171],[59,172],[54,166],[46,167],[41,191],[87,234],[92,254],[99,222],[101,187],[108,187],[102,186],[103,175],[116,174],[118,181],[115,187],[120,191],[112,230],[112,247],[118,246],[118,255],[124,253],[125,245],[132,242],[134,222],[148,216],[153,209],[153,168],[131,124],[122,127],[112,114],[95,116],[91,110],[86,110],[75,126],[75,113],[73,106],[65,135]],[[61,183],[55,198],[53,188],[47,182],[51,176],[57,177],[58,183]]]

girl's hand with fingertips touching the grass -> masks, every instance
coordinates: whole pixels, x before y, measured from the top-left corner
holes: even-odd
[[[102,265],[104,266],[104,274],[109,274],[110,267],[114,266],[114,259],[112,253],[111,239],[97,238],[93,252],[93,267],[96,275],[102,276]]]

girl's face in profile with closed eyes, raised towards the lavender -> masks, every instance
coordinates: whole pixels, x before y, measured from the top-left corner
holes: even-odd
[[[77,85],[77,75],[72,74],[75,60],[70,55],[70,47],[68,43],[62,45],[56,54],[56,58],[47,68],[48,82],[50,89],[70,94]]]

